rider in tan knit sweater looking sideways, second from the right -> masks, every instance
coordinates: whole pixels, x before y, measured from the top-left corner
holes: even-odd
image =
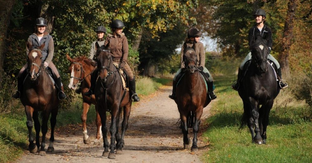
[[[177,81],[182,77],[183,72],[182,69],[185,68],[184,63],[183,63],[183,55],[184,55],[184,50],[187,49],[187,47],[193,47],[194,50],[196,51],[197,58],[199,58],[199,62],[197,61],[196,66],[200,70],[200,72],[203,75],[206,75],[207,77],[205,78],[207,84],[208,84],[208,93],[209,97],[213,100],[216,99],[217,96],[213,92],[213,79],[207,68],[205,67],[205,48],[204,44],[200,42],[200,36],[202,33],[197,29],[197,28],[191,28],[188,30],[188,37],[185,38],[185,42],[181,48],[181,68],[178,70],[178,72],[175,74],[173,78],[173,89],[172,89],[172,95],[169,95],[169,98],[175,99],[176,98],[176,84]]]

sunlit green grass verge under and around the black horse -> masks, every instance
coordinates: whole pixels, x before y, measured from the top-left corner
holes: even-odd
[[[235,77],[215,80],[218,101],[212,103],[209,127],[203,134],[210,148],[203,154],[203,162],[312,162],[312,122],[305,116],[309,109],[302,101],[275,103],[266,145],[256,145],[251,143],[247,127],[239,129],[242,102],[237,91],[230,88]],[[279,96],[287,95],[283,91]]]

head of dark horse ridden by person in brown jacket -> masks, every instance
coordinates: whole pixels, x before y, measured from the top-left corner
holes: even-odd
[[[97,66],[99,69],[99,78],[102,82],[106,82],[107,77],[113,74],[113,57],[109,50],[105,48],[105,46],[99,46],[96,42],[96,53],[95,56],[97,58]]]

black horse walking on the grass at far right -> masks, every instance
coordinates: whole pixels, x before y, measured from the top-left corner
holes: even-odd
[[[241,127],[247,123],[252,142],[266,144],[269,113],[280,88],[275,70],[267,60],[269,47],[266,40],[256,36],[251,49],[251,63],[238,89],[244,106]]]

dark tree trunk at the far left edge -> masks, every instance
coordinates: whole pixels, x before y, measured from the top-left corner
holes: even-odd
[[[7,0],[7,1],[1,1],[2,5],[5,7],[2,10],[2,15],[0,17],[0,81],[2,81],[3,76],[3,61],[5,58],[5,52],[6,52],[6,39],[7,39],[7,28],[10,24],[10,16],[12,13],[12,8],[15,3],[14,0]],[[0,88],[2,87],[2,84],[0,83]]]

